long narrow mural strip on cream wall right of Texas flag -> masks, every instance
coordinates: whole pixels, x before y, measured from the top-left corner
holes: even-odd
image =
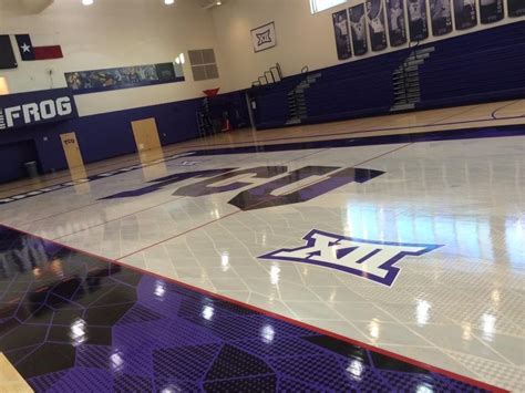
[[[66,72],[64,75],[68,86],[75,94],[184,81],[183,68],[175,63],[75,71]]]

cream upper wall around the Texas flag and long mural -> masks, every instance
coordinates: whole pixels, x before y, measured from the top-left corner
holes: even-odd
[[[198,1],[166,7],[161,0],[112,0],[84,7],[80,0],[55,0],[32,14],[21,12],[23,3],[0,2],[0,33],[11,34],[19,61],[18,69],[0,71],[10,93],[66,86],[64,72],[172,62],[183,52],[187,58],[188,49],[215,49],[219,75],[225,71],[212,14]],[[22,33],[31,35],[33,45],[60,44],[64,58],[21,61],[13,34]],[[222,86],[220,79],[194,82],[187,61],[184,75],[179,83],[76,95],[79,115],[195,99],[205,89]]]

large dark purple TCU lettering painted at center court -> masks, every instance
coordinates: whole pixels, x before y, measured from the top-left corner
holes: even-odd
[[[199,179],[199,182],[179,187],[173,195],[198,197],[233,192],[254,185],[237,194],[234,198],[228,200],[228,204],[241,210],[255,210],[307,201],[330,193],[343,185],[353,182],[366,183],[382,174],[383,172],[381,170],[352,167],[341,168],[339,166],[305,166],[291,172],[288,172],[288,167],[284,165],[258,166],[247,169],[204,169],[168,175],[151,182],[152,184],[146,187],[114,194],[102,199],[142,196],[178,182],[196,178]],[[315,179],[319,177],[321,177],[321,179],[315,182]],[[271,180],[255,185],[255,183],[259,183],[258,179]],[[308,182],[309,179],[311,182]],[[297,184],[297,187],[292,187],[292,190],[289,193],[281,195],[272,194],[272,192],[282,187],[290,188],[294,184]]]

